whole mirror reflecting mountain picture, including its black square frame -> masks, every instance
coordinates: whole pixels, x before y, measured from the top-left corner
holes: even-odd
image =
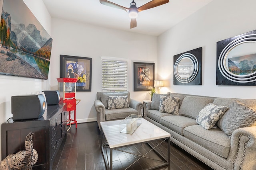
[[[256,31],[217,42],[216,85],[256,85]]]

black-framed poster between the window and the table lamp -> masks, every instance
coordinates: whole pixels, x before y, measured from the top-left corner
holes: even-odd
[[[133,91],[150,91],[154,88],[155,64],[154,63],[133,63],[134,88]]]

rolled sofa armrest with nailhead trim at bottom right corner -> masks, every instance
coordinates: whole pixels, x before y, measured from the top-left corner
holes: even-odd
[[[228,159],[233,169],[256,168],[256,126],[236,129],[231,136]]]

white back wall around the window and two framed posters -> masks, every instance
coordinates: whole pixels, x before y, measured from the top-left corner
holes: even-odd
[[[157,62],[157,37],[118,31],[84,23],[52,18],[52,55],[49,86],[58,89],[60,55],[92,58],[92,92],[76,92],[79,122],[96,121],[94,100],[101,90],[101,57],[128,59],[128,91],[131,98],[149,100],[148,92],[133,92],[133,62]],[[157,67],[155,67],[157,69]]]

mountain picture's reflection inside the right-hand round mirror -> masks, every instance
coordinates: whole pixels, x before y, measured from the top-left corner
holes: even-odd
[[[229,58],[228,70],[240,76],[254,73],[256,71],[256,54]]]

